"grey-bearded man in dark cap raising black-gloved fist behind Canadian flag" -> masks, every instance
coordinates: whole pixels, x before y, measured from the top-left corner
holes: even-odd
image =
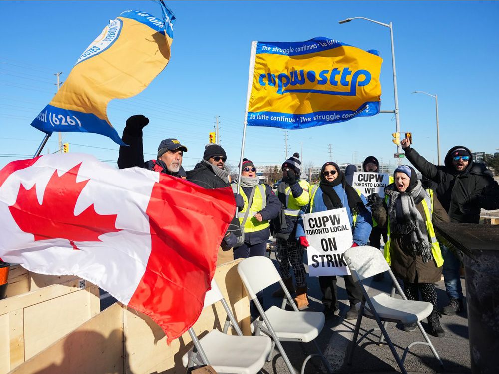
[[[184,152],[187,152],[187,147],[180,144],[177,139],[169,138],[162,140],[158,146],[157,159],[144,162],[142,129],[148,123],[149,119],[142,114],[136,114],[126,120],[121,140],[125,144],[128,144],[128,146],[120,146],[118,167],[125,169],[138,166],[171,176],[185,178],[186,174],[184,168],[182,168],[182,157]]]

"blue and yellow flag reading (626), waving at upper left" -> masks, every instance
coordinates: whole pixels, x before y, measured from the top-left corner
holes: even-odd
[[[31,126],[49,135],[102,134],[124,145],[107,118],[107,104],[137,95],[168,64],[175,17],[166,6],[162,9],[162,20],[128,10],[110,21]]]

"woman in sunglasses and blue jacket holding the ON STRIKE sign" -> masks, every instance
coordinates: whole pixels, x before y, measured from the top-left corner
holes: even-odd
[[[329,161],[322,165],[320,171],[320,182],[310,188],[310,204],[308,213],[316,213],[331,209],[347,208],[348,220],[352,228],[352,247],[366,245],[371,233],[371,214],[365,207],[366,198],[358,193],[353,187],[346,183],[345,175],[339,166]],[[302,221],[296,230],[296,236],[300,244],[308,247]],[[345,288],[350,302],[350,309],[345,318],[357,318],[355,304],[362,301],[362,291],[354,282],[351,275],[346,275]],[[326,306],[324,314],[326,318],[331,318],[338,310],[338,291],[336,288],[336,276],[319,277],[319,285],[322,291],[322,302]]]

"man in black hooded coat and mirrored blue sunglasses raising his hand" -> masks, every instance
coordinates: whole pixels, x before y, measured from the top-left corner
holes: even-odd
[[[407,139],[402,140],[407,160],[427,178],[437,184],[437,197],[449,214],[451,222],[479,223],[480,209],[499,209],[499,186],[482,163],[472,160],[471,152],[464,146],[452,147],[444,159],[444,165],[428,162],[410,147]],[[442,246],[444,258],[444,283],[449,304],[443,314],[454,315],[464,311],[463,292],[459,269],[459,254]]]

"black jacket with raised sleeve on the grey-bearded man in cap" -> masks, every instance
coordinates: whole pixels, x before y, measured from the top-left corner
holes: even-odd
[[[184,177],[186,173],[181,166],[177,173],[170,172],[166,165],[160,160],[149,160],[144,162],[144,149],[142,145],[142,130],[138,134],[131,134],[130,130],[125,127],[121,140],[129,146],[120,146],[120,155],[118,157],[118,168],[133,168],[138,166],[140,168],[155,170],[160,173],[169,174],[175,177]],[[155,167],[156,166],[156,167]],[[160,169],[161,168],[161,169]]]

